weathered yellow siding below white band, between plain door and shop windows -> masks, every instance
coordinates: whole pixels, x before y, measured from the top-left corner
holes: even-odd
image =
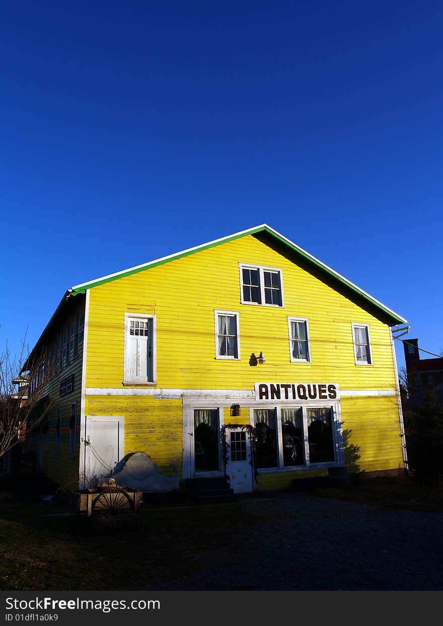
[[[145,452],[161,473],[182,475],[183,416],[181,400],[152,396],[86,396],[86,416],[124,416],[125,455]]]

